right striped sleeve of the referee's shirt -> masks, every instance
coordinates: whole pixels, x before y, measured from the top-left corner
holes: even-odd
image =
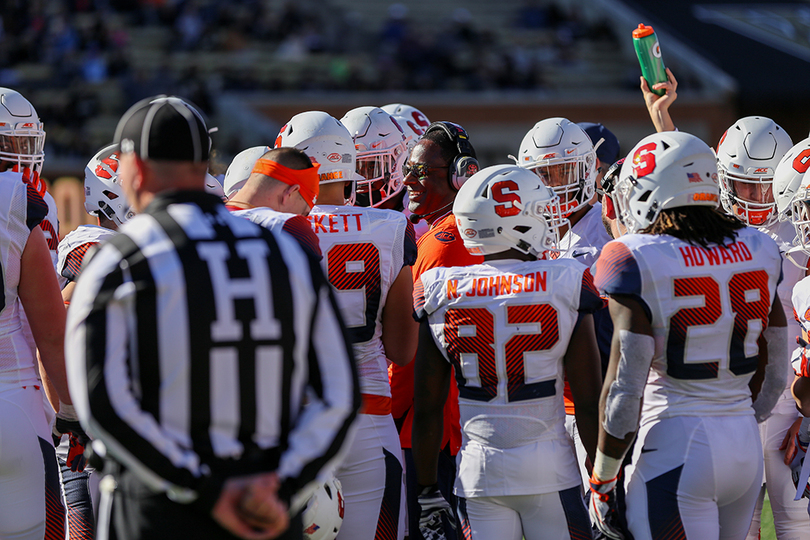
[[[348,450],[347,435],[360,410],[360,384],[349,338],[320,267],[311,264],[318,295],[309,343],[309,387],[304,412],[279,462],[279,493],[288,502]]]

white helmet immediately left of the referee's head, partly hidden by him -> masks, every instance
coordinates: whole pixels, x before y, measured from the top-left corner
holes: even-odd
[[[84,209],[123,225],[135,213],[118,178],[118,145],[105,146],[84,168]]]

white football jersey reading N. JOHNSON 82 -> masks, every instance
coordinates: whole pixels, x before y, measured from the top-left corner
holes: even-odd
[[[563,356],[580,314],[602,306],[565,259],[427,270],[417,317],[454,367],[462,427],[457,493],[548,493],[581,480],[565,431]]]

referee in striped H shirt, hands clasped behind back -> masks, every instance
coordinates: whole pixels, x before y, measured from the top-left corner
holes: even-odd
[[[301,538],[290,500],[336,465],[360,405],[328,283],[204,192],[192,105],[143,100],[115,141],[140,215],[83,269],[66,339],[79,417],[120,465],[114,533]]]

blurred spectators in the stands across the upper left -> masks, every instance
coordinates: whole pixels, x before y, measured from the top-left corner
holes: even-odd
[[[0,85],[33,97],[51,155],[78,157],[105,142],[100,117],[155,93],[215,115],[229,90],[536,90],[554,87],[549,66],[577,62],[577,43],[616,42],[607,23],[550,0],[516,3],[503,23],[462,6],[424,21],[396,3],[371,21],[314,1],[9,0]],[[232,61],[212,69],[204,58],[217,54]]]

